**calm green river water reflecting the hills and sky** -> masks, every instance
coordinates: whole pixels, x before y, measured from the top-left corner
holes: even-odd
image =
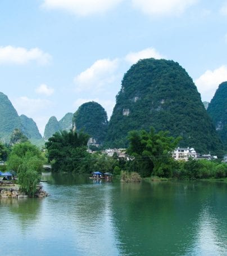
[[[0,255],[227,255],[227,184],[43,179],[43,199],[0,200]]]

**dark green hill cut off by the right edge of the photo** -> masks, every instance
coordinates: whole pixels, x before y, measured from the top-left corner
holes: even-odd
[[[227,82],[221,83],[207,108],[227,150]]]

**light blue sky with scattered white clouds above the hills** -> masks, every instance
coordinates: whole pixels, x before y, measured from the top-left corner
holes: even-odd
[[[202,101],[227,80],[227,0],[1,0],[0,91],[43,135],[88,101],[108,118],[139,59],[178,62]]]

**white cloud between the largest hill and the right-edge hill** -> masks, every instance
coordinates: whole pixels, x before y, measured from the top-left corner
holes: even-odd
[[[227,80],[227,66],[215,70],[207,70],[196,80],[196,86],[201,93],[202,100],[210,101],[214,97],[219,84]]]

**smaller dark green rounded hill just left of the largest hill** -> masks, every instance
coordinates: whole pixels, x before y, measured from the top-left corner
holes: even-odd
[[[108,128],[107,114],[97,102],[82,104],[74,113],[72,122],[77,131],[83,129],[90,137],[95,138],[98,144],[105,140]]]

